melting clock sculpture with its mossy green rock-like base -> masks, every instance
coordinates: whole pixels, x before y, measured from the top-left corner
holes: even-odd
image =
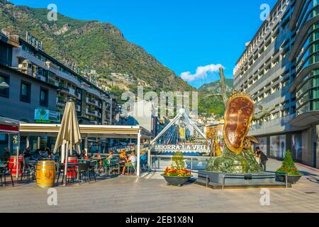
[[[254,159],[252,143],[258,143],[254,137],[247,136],[253,120],[270,113],[267,110],[254,115],[254,102],[247,94],[233,92],[227,102],[225,110],[225,126],[223,138],[225,148],[223,155],[208,161],[207,171],[226,173],[262,172],[258,162]],[[268,113],[269,112],[269,113]],[[257,118],[256,118],[257,117]]]

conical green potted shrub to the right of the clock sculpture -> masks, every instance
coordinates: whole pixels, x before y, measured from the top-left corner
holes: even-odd
[[[291,152],[289,150],[286,151],[286,155],[284,157],[284,162],[281,167],[277,170],[277,172],[285,172],[288,175],[288,183],[296,184],[299,179],[301,179],[301,173],[297,170],[295,162],[293,162],[293,158],[291,156]],[[277,176],[277,178],[281,182],[286,182],[286,176]]]

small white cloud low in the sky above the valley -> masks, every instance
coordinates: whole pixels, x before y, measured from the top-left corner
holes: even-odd
[[[182,72],[181,79],[184,79],[186,82],[193,82],[196,79],[206,79],[209,73],[218,72],[220,67],[223,67],[223,65],[212,64],[199,66],[197,67],[195,74],[191,74],[191,72]]]

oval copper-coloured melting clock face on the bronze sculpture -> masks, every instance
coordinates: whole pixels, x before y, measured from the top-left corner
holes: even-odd
[[[235,94],[230,97],[224,116],[223,134],[228,149],[237,155],[245,148],[244,141],[250,130],[253,116],[254,102],[250,96]]]

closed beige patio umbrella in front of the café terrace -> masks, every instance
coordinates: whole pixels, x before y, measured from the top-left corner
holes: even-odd
[[[69,153],[72,155],[72,150],[77,150],[80,153],[79,143],[81,143],[81,140],[74,101],[70,100],[65,105],[60,131],[55,142],[55,149],[53,150],[53,153],[57,153],[58,148],[62,147],[61,162],[65,161],[65,173],[67,172],[68,155]],[[66,179],[67,177],[65,177],[65,181]]]

